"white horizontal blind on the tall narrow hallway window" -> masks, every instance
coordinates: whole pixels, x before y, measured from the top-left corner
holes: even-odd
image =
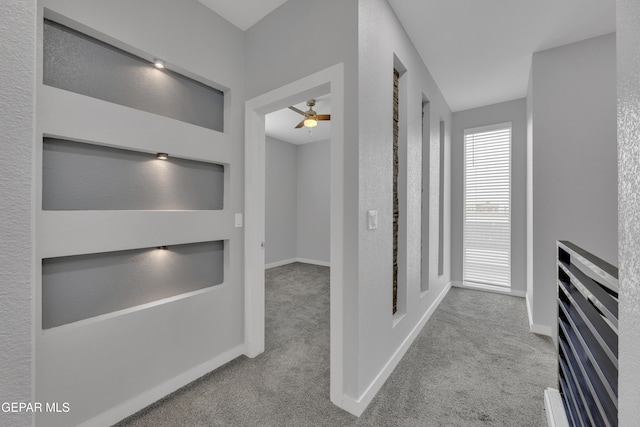
[[[464,134],[463,280],[511,286],[511,123]]]

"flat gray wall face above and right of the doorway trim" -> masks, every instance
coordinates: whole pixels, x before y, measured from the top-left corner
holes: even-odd
[[[344,387],[340,387],[339,405],[343,395],[356,394],[358,357],[358,3],[357,0],[296,0],[286,2],[256,23],[246,36],[246,94],[252,99],[270,90],[342,64],[344,79],[344,152],[332,153],[332,157],[344,159],[344,183],[334,191],[344,192],[344,213],[340,218],[342,239],[340,265],[332,267],[332,276],[343,277],[345,331]],[[331,23],[331,31],[326,31]],[[309,51],[301,40],[322,40]],[[277,47],[277,48],[274,48]],[[342,80],[342,79],[341,79]],[[300,102],[307,98],[299,99]],[[332,113],[336,107],[332,99]],[[334,121],[335,123],[335,121]],[[332,131],[335,128],[332,126]],[[333,159],[332,159],[333,164]],[[333,244],[333,243],[332,243]],[[340,270],[338,273],[337,271]],[[333,345],[333,344],[332,344]],[[332,373],[335,375],[335,373]],[[332,377],[333,382],[333,377]],[[333,387],[333,386],[332,386]],[[334,398],[332,393],[332,399]],[[336,401],[336,400],[334,400]]]

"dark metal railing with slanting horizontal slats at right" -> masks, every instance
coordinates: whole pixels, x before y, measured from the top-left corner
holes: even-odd
[[[618,425],[618,270],[558,242],[558,382],[571,426]]]

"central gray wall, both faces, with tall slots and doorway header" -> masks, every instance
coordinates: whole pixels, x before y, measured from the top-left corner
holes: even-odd
[[[331,31],[326,32],[326,23]],[[384,28],[384,31],[380,31]],[[292,34],[323,42],[310,53]],[[445,121],[446,163],[451,112],[407,35],[384,0],[287,2],[247,31],[248,98],[344,64],[344,396],[339,404],[361,413],[391,373],[448,289],[450,181],[445,182],[445,274],[420,292],[422,94],[431,101],[430,247],[438,246],[439,125]],[[278,49],[273,49],[278,46]],[[407,68],[407,310],[391,313],[391,97],[394,53]],[[360,125],[359,125],[360,123]],[[332,156],[335,153],[332,153]],[[366,230],[366,211],[378,209],[379,229]]]

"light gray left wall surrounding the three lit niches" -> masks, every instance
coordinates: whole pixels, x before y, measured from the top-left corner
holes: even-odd
[[[220,211],[47,212],[36,149],[35,400],[66,401],[71,409],[38,414],[37,423],[109,425],[245,351],[243,229],[233,221],[244,205],[244,34],[198,2],[42,0],[38,6],[39,20],[47,8],[90,35],[146,59],[162,58],[169,69],[225,91],[221,133],[44,86],[36,67],[36,147],[43,134],[53,134],[228,166]],[[171,31],[158,23],[170,23]],[[41,47],[31,55],[40,62]],[[42,258],[211,240],[227,242],[223,284],[41,332]]]

